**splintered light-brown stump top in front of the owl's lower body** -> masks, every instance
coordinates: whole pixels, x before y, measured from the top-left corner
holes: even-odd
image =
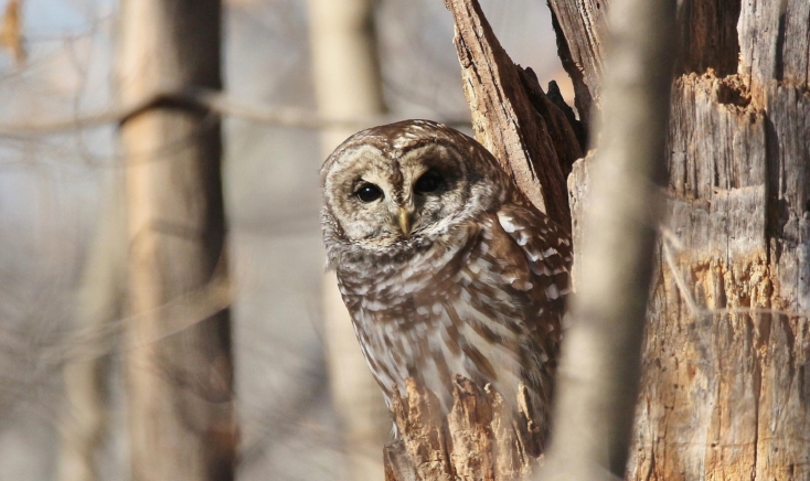
[[[522,398],[513,410],[490,385],[456,376],[454,404],[441,411],[438,398],[414,380],[392,403],[399,439],[385,448],[386,481],[507,481],[532,472],[542,434]]]

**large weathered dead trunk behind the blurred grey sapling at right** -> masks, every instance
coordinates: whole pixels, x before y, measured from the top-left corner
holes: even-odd
[[[598,107],[601,61],[589,55],[607,28],[593,12],[609,4],[551,6],[577,95]],[[810,478],[809,19],[806,0],[680,7],[628,479]],[[569,179],[575,252],[589,168]]]

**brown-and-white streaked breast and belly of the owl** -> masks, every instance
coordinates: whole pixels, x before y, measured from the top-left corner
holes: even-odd
[[[551,253],[526,254],[504,222],[516,229],[513,218],[489,214],[398,261],[372,256],[339,267],[343,299],[386,402],[413,377],[449,409],[452,376],[460,374],[491,384],[508,400],[523,383],[537,406],[547,405],[547,363],[562,311],[554,309],[559,296],[546,292],[555,285],[544,264]]]

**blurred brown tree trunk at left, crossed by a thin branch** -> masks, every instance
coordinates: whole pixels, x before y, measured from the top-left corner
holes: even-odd
[[[219,89],[217,0],[126,0],[120,95],[125,105],[159,89]],[[233,479],[227,310],[171,333],[160,309],[199,291],[226,268],[215,115],[171,103],[126,119],[129,216],[127,409],[132,479]],[[170,335],[167,335],[171,333]]]

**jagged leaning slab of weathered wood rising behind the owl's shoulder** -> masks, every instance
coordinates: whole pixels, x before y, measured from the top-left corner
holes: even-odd
[[[541,211],[568,227],[565,178],[582,157],[576,120],[543,93],[531,70],[501,47],[476,0],[445,0],[456,22],[456,49],[472,129]],[[572,125],[572,120],[574,125]]]

